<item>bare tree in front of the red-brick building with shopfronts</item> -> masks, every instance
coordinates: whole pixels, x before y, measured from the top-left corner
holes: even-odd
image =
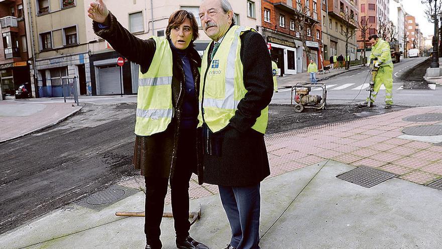
[[[307,46],[307,40],[313,37],[312,32],[318,22],[313,18],[313,10],[310,10],[305,4],[302,5],[300,0],[296,1],[296,11],[293,16],[295,27],[299,30],[296,36],[301,39],[308,60],[311,49]]]

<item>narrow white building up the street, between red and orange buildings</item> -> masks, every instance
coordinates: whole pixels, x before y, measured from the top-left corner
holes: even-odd
[[[405,15],[406,12],[402,5],[402,1],[391,0],[389,18],[397,31],[397,35],[395,38],[399,42],[399,50],[402,52],[401,57],[404,55],[405,52]]]

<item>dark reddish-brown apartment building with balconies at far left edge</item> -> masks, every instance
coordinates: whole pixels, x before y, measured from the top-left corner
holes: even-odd
[[[22,0],[0,1],[0,100],[15,99],[15,90],[24,84],[33,90],[29,77],[25,12]]]

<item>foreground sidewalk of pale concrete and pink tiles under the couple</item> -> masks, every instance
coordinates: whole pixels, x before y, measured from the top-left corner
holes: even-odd
[[[436,135],[403,133],[418,126]],[[438,248],[442,191],[426,185],[442,178],[440,127],[442,107],[422,107],[266,136],[261,247]],[[370,189],[336,178],[360,165],[397,178]],[[0,248],[144,248],[144,218],[114,215],[144,210],[144,180],[118,185],[139,192],[98,209],[71,203],[0,235]],[[191,210],[202,212],[191,235],[224,248],[230,227],[216,186],[193,176],[189,192]],[[170,210],[169,194],[166,202]],[[163,219],[161,238],[175,248],[172,219]]]

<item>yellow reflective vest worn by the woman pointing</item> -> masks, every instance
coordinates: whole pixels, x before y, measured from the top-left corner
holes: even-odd
[[[150,136],[165,131],[172,121],[172,50],[164,37],[152,37],[155,54],[149,70],[138,76],[135,134]]]

